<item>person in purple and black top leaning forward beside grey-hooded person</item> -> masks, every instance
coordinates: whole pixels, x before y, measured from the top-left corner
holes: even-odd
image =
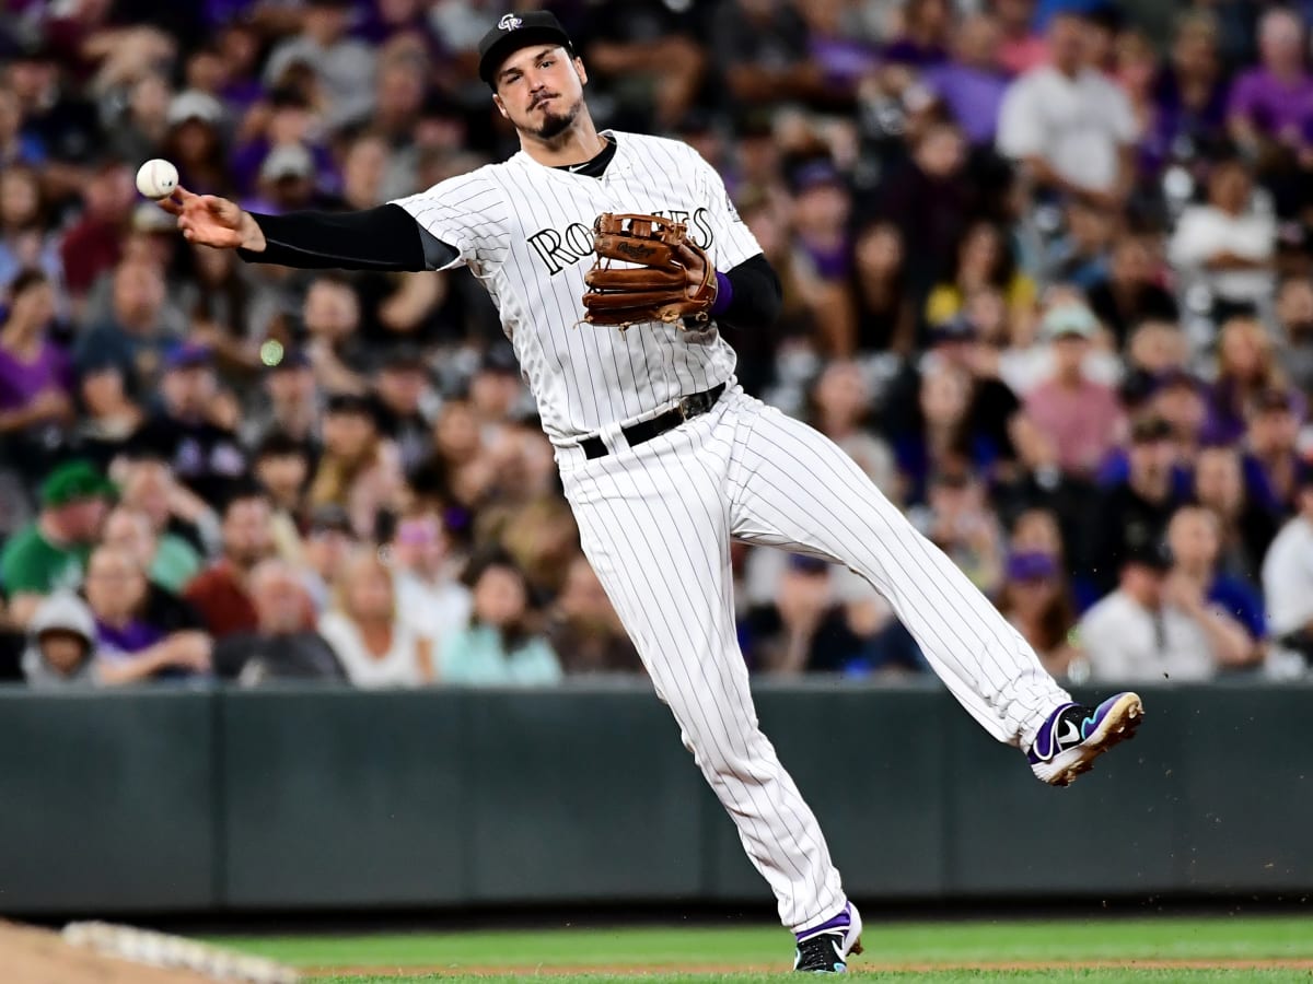
[[[210,636],[190,605],[151,585],[133,556],[97,547],[87,563],[96,659],[106,684],[176,678],[210,669]]]

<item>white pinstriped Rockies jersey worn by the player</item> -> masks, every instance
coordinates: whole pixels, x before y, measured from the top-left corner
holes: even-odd
[[[762,252],[697,151],[659,136],[607,135],[616,156],[600,177],[546,167],[520,151],[395,202],[460,251],[449,268],[467,265],[487,289],[542,429],[557,443],[651,416],[734,373],[734,350],[714,325],[687,332],[653,323],[621,332],[582,321],[600,213],[681,219],[722,272]]]

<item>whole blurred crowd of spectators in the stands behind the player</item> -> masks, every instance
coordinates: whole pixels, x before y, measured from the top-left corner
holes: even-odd
[[[843,446],[1060,678],[1313,657],[1306,4],[562,0],[599,127],[723,174],[784,314],[739,380]],[[519,9],[527,5],[516,4]],[[362,209],[516,147],[484,0],[0,14],[0,673],[641,673],[463,272],[192,247],[142,160]],[[1166,14],[1166,16],[1165,16]],[[754,672],[926,672],[842,568],[734,544]]]

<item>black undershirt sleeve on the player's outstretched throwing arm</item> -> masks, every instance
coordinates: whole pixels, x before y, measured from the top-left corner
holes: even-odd
[[[247,262],[306,270],[436,270],[458,251],[423,228],[399,205],[362,211],[251,214],[264,232],[261,252],[238,249]]]

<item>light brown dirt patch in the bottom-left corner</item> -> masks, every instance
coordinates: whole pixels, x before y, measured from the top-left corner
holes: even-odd
[[[70,946],[58,933],[0,921],[4,984],[204,984],[190,971],[165,971]]]

